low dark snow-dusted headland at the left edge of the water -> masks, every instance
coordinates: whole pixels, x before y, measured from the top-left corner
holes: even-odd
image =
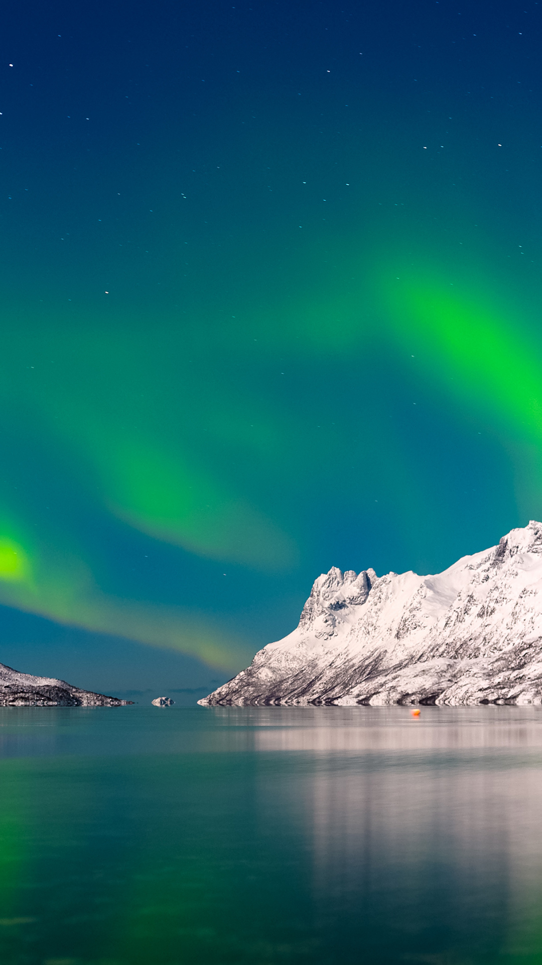
[[[120,707],[132,701],[72,687],[50,676],[19,674],[0,664],[0,707]]]

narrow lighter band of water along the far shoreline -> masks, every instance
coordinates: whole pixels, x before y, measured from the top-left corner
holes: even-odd
[[[542,748],[542,707],[1,707],[0,758]]]

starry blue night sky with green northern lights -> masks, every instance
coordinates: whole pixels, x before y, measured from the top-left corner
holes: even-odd
[[[541,13],[4,9],[0,660],[206,688],[542,518]]]

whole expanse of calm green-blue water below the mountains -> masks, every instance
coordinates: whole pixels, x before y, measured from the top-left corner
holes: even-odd
[[[0,709],[2,965],[542,962],[542,710]]]

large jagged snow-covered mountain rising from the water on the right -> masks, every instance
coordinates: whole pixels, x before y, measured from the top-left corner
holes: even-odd
[[[202,703],[542,703],[542,523],[435,576],[336,566]]]

